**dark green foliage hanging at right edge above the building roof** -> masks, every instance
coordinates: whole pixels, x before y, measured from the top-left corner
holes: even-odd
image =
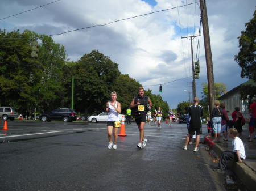
[[[256,10],[253,18],[245,23],[246,30],[241,32],[239,39],[240,50],[235,57],[241,67],[241,77],[253,79],[256,82]]]

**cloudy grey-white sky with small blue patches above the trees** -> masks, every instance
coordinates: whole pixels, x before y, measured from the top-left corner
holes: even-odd
[[[53,1],[1,0],[0,19]],[[214,80],[225,83],[231,90],[247,80],[240,77],[241,69],[234,55],[238,53],[237,37],[253,17],[256,3],[254,0],[206,3]],[[53,36],[53,40],[65,46],[69,60],[77,61],[97,49],[117,62],[122,74],[129,74],[154,94],[159,94],[159,84],[163,84],[160,95],[170,108],[176,108],[179,102],[188,101],[191,92],[191,45],[190,40],[181,37],[199,34],[199,0],[60,0],[2,19],[0,29],[8,32],[30,29],[52,35],[164,9],[170,10]],[[207,82],[207,73],[203,36],[197,51],[198,40],[198,37],[193,39],[193,55],[200,60],[196,91],[201,97],[201,83]]]

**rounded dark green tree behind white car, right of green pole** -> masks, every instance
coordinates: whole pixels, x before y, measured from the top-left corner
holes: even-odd
[[[110,90],[113,90],[115,79],[121,74],[118,64],[98,50],[92,50],[91,53],[84,54],[71,68],[67,87],[74,76],[75,109],[85,114],[92,109],[101,112],[110,97]]]

